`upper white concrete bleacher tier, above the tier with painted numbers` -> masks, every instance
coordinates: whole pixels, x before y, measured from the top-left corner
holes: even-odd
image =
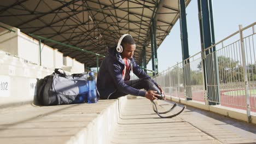
[[[67,69],[69,73],[84,72],[83,63],[68,56],[63,57],[63,53],[43,43],[41,43],[39,50],[38,40],[20,32],[18,28],[1,22],[0,25],[15,31],[8,32],[7,29],[0,28],[0,50],[38,65],[40,65],[41,57],[41,65],[49,69],[71,67]]]

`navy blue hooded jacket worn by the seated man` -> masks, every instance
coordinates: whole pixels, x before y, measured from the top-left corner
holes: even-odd
[[[122,74],[125,63],[121,58],[120,53],[117,52],[115,47],[110,48],[108,52],[109,55],[104,58],[97,75],[97,90],[100,93],[100,98],[108,99],[109,95],[116,91],[144,97],[146,94],[145,91],[130,87],[124,83]],[[132,64],[132,70],[136,76],[140,79],[147,77],[152,80],[141,68],[138,67],[133,57],[130,58],[130,60],[130,66]],[[129,73],[130,71],[131,67]],[[152,81],[156,86],[158,85],[154,80]]]

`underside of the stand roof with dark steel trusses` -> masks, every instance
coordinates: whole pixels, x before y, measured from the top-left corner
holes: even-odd
[[[190,0],[186,1],[186,5]],[[156,43],[170,33],[179,17],[178,0],[8,0],[0,3],[0,21],[32,33],[80,49],[107,55],[108,47],[117,45],[123,34],[136,41],[135,59],[142,61],[146,46],[147,63],[151,58],[149,27],[157,17]],[[65,56],[77,59],[86,67],[96,67],[96,57],[43,41]],[[100,57],[100,60],[102,57]]]

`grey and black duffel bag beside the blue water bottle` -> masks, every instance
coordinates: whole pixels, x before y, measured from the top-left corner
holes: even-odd
[[[78,104],[88,101],[87,73],[66,75],[62,69],[39,80],[37,99],[40,105]]]

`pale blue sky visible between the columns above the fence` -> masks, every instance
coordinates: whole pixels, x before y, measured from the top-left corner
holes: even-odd
[[[238,25],[246,27],[256,22],[256,0],[212,0],[216,43],[238,31]],[[191,0],[186,8],[189,55],[201,51],[197,0]],[[159,72],[182,62],[181,31],[179,20],[158,48]],[[152,69],[149,61],[147,69]]]

